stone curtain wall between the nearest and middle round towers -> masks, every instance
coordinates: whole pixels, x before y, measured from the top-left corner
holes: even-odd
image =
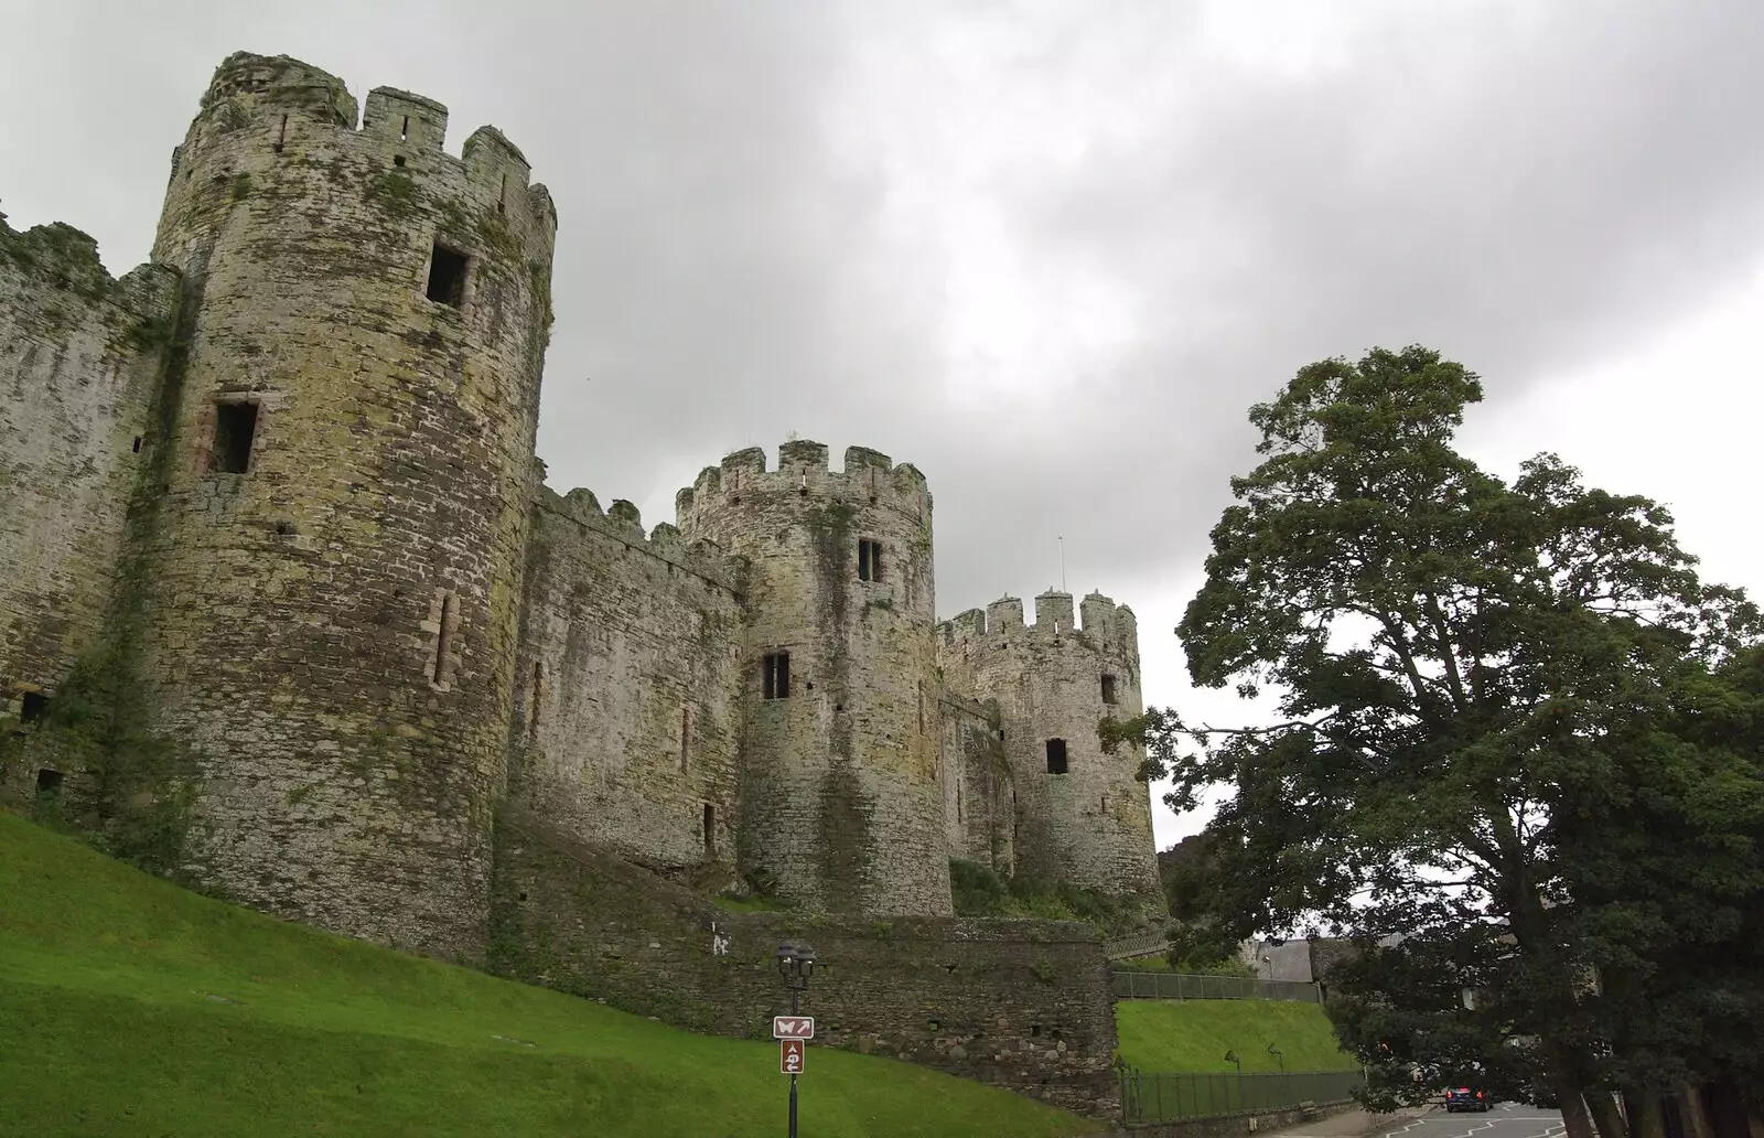
[[[587,490],[542,490],[510,796],[561,833],[653,868],[732,866],[737,570],[672,526],[646,538],[632,503],[602,513]]]

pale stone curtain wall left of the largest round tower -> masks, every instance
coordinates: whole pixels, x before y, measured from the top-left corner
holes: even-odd
[[[176,302],[173,270],[113,281],[85,233],[0,219],[0,725],[99,635]]]

